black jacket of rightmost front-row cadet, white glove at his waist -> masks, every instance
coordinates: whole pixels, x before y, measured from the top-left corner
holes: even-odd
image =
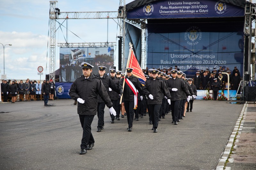
[[[166,87],[170,91],[172,96],[171,101],[181,100],[181,92],[184,91],[187,96],[190,96],[190,93],[187,89],[187,86],[183,80],[176,77],[175,79],[170,78],[166,81]],[[172,88],[177,88],[178,91],[173,92]]]

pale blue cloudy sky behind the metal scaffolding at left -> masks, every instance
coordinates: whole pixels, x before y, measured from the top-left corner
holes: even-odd
[[[132,0],[126,0],[126,4]],[[119,0],[58,0],[60,11],[117,11]],[[49,29],[50,3],[47,0],[1,0],[0,5],[0,43],[12,44],[4,48],[0,44],[0,70],[1,75],[7,79],[39,79],[38,66],[44,68],[49,74],[47,42]],[[64,20],[59,20],[63,22]],[[63,25],[67,25],[65,21]],[[56,28],[59,25],[56,23]],[[69,19],[68,42],[106,42],[107,19]],[[108,22],[108,41],[115,42],[119,36],[119,27],[113,19]],[[56,32],[56,43],[65,42],[66,28],[62,27]],[[64,35],[63,35],[64,34]],[[116,49],[117,50],[117,49]],[[4,67],[5,64],[5,67]],[[46,68],[47,64],[47,68]],[[4,69],[5,68],[5,69]],[[59,68],[59,47],[56,47],[56,69]],[[1,78],[1,77],[0,77]]]

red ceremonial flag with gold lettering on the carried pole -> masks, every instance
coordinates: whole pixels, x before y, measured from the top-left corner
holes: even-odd
[[[142,69],[140,67],[140,64],[138,63],[133,50],[130,48],[130,56],[128,57],[128,67],[127,68],[132,68],[132,75],[137,77],[140,80],[141,85],[145,85],[146,78],[144,76],[144,73],[142,72]]]

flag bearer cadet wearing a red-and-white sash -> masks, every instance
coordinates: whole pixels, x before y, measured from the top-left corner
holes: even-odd
[[[123,99],[124,108],[126,111],[128,121],[128,131],[132,131],[132,122],[134,117],[134,109],[137,105],[137,91],[140,93],[140,99],[142,100],[142,85],[138,78],[132,75],[132,68],[126,68],[127,75],[120,82],[121,85],[124,83]],[[125,81],[125,82],[124,82]]]

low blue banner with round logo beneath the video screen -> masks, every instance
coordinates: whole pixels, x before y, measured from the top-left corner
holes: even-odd
[[[55,83],[55,90],[56,90],[56,97],[59,99],[71,99],[68,92],[70,90],[70,87],[73,83],[67,83],[67,82],[56,82]]]

